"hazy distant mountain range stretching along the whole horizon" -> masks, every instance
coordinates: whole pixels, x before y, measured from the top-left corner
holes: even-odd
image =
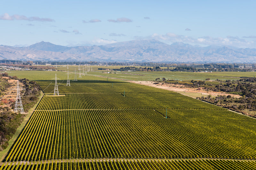
[[[256,49],[198,47],[182,42],[169,45],[157,40],[77,47],[41,41],[28,47],[0,45],[0,60],[252,63],[256,62]]]

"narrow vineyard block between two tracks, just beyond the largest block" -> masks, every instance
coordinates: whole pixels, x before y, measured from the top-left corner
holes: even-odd
[[[212,109],[226,110],[196,99],[169,93],[66,93],[45,94],[38,110],[63,109]]]

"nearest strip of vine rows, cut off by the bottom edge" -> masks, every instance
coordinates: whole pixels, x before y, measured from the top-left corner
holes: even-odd
[[[57,162],[44,161],[40,163],[18,163],[17,165],[2,166],[3,170],[6,169],[22,169],[22,170],[37,170],[37,169],[95,169],[95,170],[112,170],[112,169],[204,169],[204,170],[225,170],[225,169],[239,169],[239,170],[253,170],[256,169],[255,161],[238,161],[238,160],[74,160]],[[0,168],[0,169],[1,169]]]

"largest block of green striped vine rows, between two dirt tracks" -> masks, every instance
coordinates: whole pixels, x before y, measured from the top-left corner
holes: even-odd
[[[226,110],[36,111],[7,161],[256,158],[255,120]]]

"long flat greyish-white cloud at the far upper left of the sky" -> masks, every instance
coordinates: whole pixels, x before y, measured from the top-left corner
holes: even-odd
[[[39,18],[39,17],[26,17],[24,15],[12,15],[10,16],[8,13],[4,13],[4,15],[0,16],[2,20],[27,20],[27,21],[41,21],[41,22],[53,22],[54,19],[51,18]]]

